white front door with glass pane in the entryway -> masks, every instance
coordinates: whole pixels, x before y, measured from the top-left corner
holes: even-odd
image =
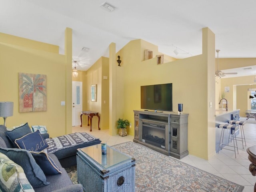
[[[83,82],[72,81],[72,126],[81,125],[80,115],[83,110]]]

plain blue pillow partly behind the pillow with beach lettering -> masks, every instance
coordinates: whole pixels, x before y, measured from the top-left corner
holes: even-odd
[[[14,143],[14,141],[18,138],[21,138],[22,136],[31,133],[31,129],[28,126],[28,123],[24,124],[23,126],[20,126],[18,128],[15,128],[12,131],[7,131],[5,132],[5,134],[7,135],[7,137],[9,138],[9,140],[11,141],[11,143],[13,144],[12,147],[17,148],[16,144]]]

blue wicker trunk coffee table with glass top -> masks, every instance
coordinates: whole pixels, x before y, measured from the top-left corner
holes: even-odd
[[[101,144],[77,150],[77,180],[85,192],[135,192],[135,159]]]

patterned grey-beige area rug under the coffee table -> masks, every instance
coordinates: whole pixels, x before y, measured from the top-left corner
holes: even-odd
[[[242,192],[244,189],[244,186],[134,142],[113,147],[136,159],[136,192]],[[67,172],[77,183],[76,167]]]

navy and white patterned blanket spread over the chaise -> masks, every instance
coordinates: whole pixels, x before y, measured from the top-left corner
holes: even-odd
[[[94,136],[85,132],[72,133],[68,135],[45,139],[46,143],[49,145],[49,147],[47,148],[47,153],[54,153],[61,149],[77,146],[94,140],[98,140],[98,138],[95,138]]]

